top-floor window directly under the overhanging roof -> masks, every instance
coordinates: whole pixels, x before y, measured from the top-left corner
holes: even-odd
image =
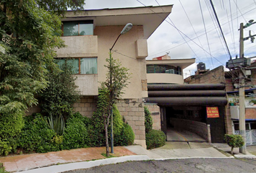
[[[93,20],[63,22],[62,36],[93,35]]]

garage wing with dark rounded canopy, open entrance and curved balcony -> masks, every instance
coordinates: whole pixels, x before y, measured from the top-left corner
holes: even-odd
[[[202,68],[203,64],[200,63],[200,66],[197,66],[197,71],[203,71],[205,74],[212,76],[203,77],[205,74],[198,73],[198,75],[185,79],[185,82],[189,84],[184,84],[183,77],[180,74],[179,68],[177,68],[178,66],[182,68],[182,64],[177,65],[174,62],[179,61],[182,63],[183,61],[183,65],[185,65],[186,61],[186,63],[192,64],[195,62],[195,59],[157,59],[161,61],[150,61],[150,63],[147,61],[147,64],[157,64],[154,66],[162,67],[161,65],[166,65],[166,61],[170,61],[168,66],[175,67],[173,68],[172,75],[179,76],[179,78],[172,76],[168,79],[167,75],[171,74],[164,74],[166,79],[163,79],[161,77],[163,74],[155,74],[150,79],[152,74],[147,74],[149,76],[148,98],[145,99],[145,104],[155,103],[160,107],[159,112],[161,116],[159,116],[159,119],[161,119],[161,130],[167,133],[168,128],[181,128],[197,133],[208,142],[222,143],[223,135],[225,134],[224,112],[227,99],[222,79],[215,77],[216,73],[222,72],[213,70],[213,74],[209,74],[210,71],[205,70],[205,67]],[[148,67],[150,65],[147,65]],[[152,67],[149,70],[153,71]],[[164,72],[161,71],[161,73]],[[199,79],[202,79],[202,82]],[[212,118],[210,114],[207,114],[208,109],[218,110],[218,117]]]

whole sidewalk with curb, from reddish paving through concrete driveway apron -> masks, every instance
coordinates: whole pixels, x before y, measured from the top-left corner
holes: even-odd
[[[70,151],[56,151],[46,154],[25,154],[17,156],[1,157],[8,172],[22,173],[57,173],[73,169],[86,169],[104,164],[116,164],[124,161],[139,160],[164,160],[187,158],[256,158],[256,146],[247,146],[248,154],[239,154],[238,148],[234,149],[234,156],[226,153],[230,147],[223,143],[184,143],[166,142],[166,145],[153,150],[146,150],[142,146],[116,146],[115,157],[106,159],[102,153],[106,153],[105,147],[79,148]],[[252,154],[251,154],[252,153]]]

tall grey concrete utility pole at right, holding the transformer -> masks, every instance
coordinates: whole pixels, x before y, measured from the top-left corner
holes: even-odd
[[[239,58],[244,58],[244,24],[240,24],[240,46]],[[244,140],[244,146],[239,148],[239,152],[246,154],[246,130],[245,130],[245,109],[244,109],[244,74],[243,68],[239,71],[239,133]]]

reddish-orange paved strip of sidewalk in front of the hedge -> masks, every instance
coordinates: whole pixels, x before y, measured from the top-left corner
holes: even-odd
[[[0,162],[4,164],[5,170],[8,172],[27,171],[40,167],[48,167],[51,165],[60,165],[73,163],[78,161],[92,161],[95,159],[106,159],[102,156],[106,153],[106,147],[79,148],[65,151],[49,152],[46,154],[24,154],[16,156],[1,157]],[[136,155],[132,151],[122,146],[114,147],[116,157]],[[36,171],[37,172],[37,171]]]

